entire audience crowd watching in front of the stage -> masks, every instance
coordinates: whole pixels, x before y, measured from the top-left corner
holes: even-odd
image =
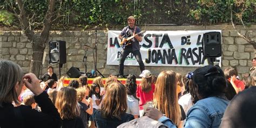
[[[111,75],[105,84],[97,77],[89,86],[87,77],[80,76],[66,87],[64,77],[39,84],[35,75],[23,76],[21,68],[8,60],[0,60],[0,71],[5,72],[0,75],[1,128],[100,128],[135,124],[144,127],[139,122],[166,127],[241,126],[234,120],[248,127],[256,126],[250,119],[242,120],[246,118],[242,113],[245,110],[237,108],[252,110],[250,115],[254,116],[255,110],[250,108],[255,107],[255,102],[245,104],[256,99],[255,95],[246,95],[255,90],[254,78],[247,76],[240,80],[232,67],[223,71],[219,66],[208,65],[185,76],[171,70],[155,76],[144,70],[139,75],[140,84],[136,75],[131,74],[124,85]]]

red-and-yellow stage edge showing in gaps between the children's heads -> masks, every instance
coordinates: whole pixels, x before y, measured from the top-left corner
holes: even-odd
[[[91,86],[93,79],[94,79],[94,78],[87,78],[87,84],[88,84],[89,86]],[[106,78],[102,78],[102,79],[103,79],[103,83],[105,84]],[[69,82],[70,82],[71,80],[78,80],[78,78],[65,78],[65,79],[64,79],[64,86],[69,86]],[[125,84],[125,82],[126,82],[126,78],[119,78],[118,80],[119,80],[121,83],[123,83],[123,84]],[[137,79],[136,79],[136,83],[137,83],[137,84],[140,84],[141,80],[142,80],[142,79],[137,78]]]

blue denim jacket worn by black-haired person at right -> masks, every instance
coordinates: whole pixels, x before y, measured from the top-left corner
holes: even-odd
[[[228,103],[220,97],[199,100],[188,111],[185,127],[219,127]]]

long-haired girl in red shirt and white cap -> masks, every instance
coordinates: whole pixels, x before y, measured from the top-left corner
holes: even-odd
[[[152,75],[149,70],[144,70],[139,76],[142,77],[142,83],[137,87],[136,96],[139,98],[139,116],[142,117],[143,105],[153,100],[155,86],[152,83]]]

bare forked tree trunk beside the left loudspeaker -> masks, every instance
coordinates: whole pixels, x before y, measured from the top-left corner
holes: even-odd
[[[35,73],[37,77],[40,75],[40,70],[41,70],[41,64],[42,64],[42,59],[43,59],[43,52],[46,46],[46,43],[49,38],[49,32],[51,30],[53,16],[54,15],[54,9],[55,9],[55,0],[49,0],[49,5],[48,5],[48,11],[45,14],[44,20],[43,20],[43,29],[40,32],[39,36],[36,36],[35,32],[31,28],[32,24],[36,23],[31,23],[28,21],[28,16],[26,16],[26,11],[24,8],[24,3],[22,0],[16,0],[17,5],[18,5],[18,10],[14,9],[14,6],[12,2],[11,8],[14,10],[15,15],[18,17],[19,21],[19,26],[21,29],[24,31],[25,36],[28,38],[28,41],[32,43],[32,59],[30,63],[30,72]]]

